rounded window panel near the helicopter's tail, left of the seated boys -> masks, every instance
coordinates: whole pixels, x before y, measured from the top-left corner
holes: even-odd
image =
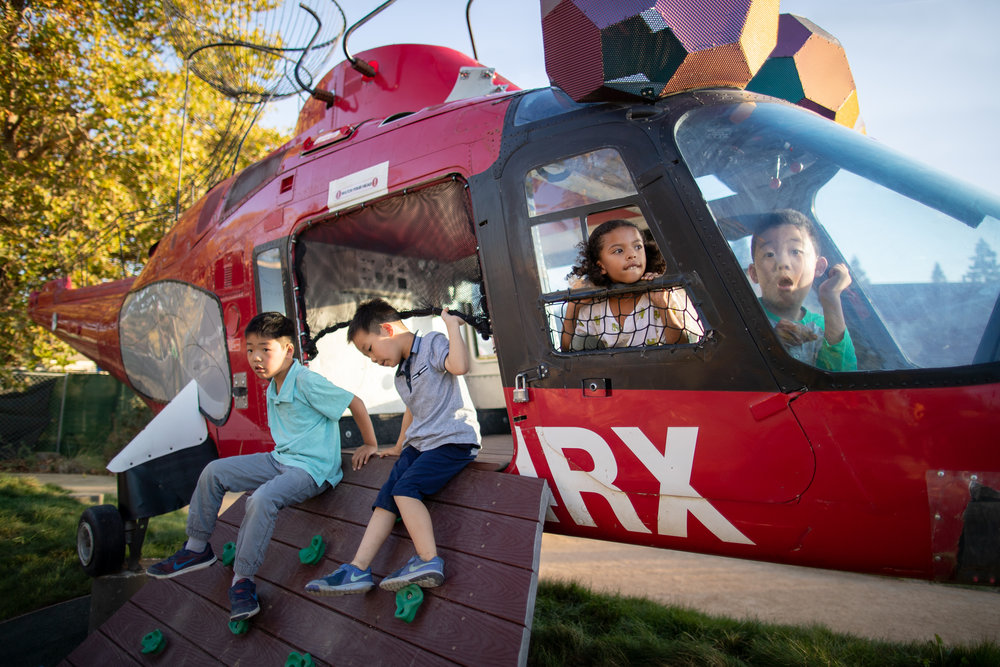
[[[198,382],[198,405],[217,423],[232,399],[222,306],[181,282],[147,285],[125,298],[119,315],[122,363],[132,386],[156,401]]]

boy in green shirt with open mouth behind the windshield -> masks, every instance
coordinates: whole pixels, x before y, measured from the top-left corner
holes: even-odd
[[[829,262],[819,253],[812,221],[792,209],[764,217],[750,240],[750,279],[760,285],[760,302],[778,338],[799,361],[828,371],[854,371],[858,359],[844,321],[841,293],[851,284],[844,264],[830,267],[819,286],[823,314],[803,307],[813,281]]]

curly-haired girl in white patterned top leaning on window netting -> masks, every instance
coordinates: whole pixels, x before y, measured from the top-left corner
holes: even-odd
[[[650,266],[647,266],[647,263]],[[652,280],[666,269],[654,245],[647,246],[642,232],[626,220],[609,220],[581,244],[580,262],[573,267],[575,286],[607,287]],[[673,345],[698,340],[703,334],[697,313],[682,288],[642,289],[637,292],[569,301],[563,319],[564,351],[593,347]]]

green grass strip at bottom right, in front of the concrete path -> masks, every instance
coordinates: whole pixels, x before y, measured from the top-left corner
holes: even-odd
[[[889,643],[831,632],[711,617],[649,600],[540,583],[529,664],[998,665],[1000,646]]]

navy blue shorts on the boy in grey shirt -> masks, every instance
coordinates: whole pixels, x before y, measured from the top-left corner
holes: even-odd
[[[372,509],[381,507],[395,515],[399,508],[393,496],[406,496],[423,500],[424,496],[437,493],[452,477],[469,465],[479,453],[476,445],[441,445],[426,452],[405,447],[396,465],[389,473]]]

